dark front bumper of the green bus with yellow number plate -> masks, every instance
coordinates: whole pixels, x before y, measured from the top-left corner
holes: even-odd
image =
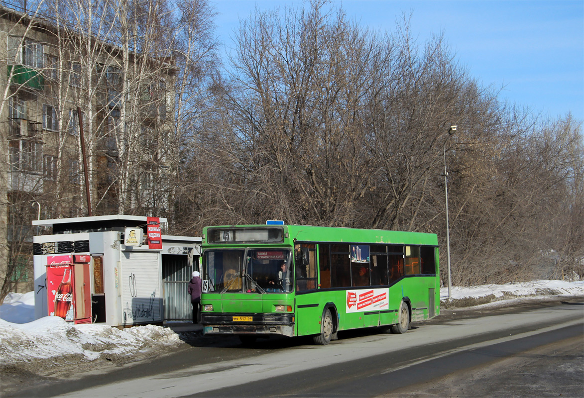
[[[279,334],[295,336],[293,313],[230,313],[201,312],[203,334]]]

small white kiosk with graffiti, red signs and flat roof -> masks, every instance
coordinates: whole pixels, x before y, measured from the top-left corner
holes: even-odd
[[[190,302],[182,303],[186,288],[171,289],[163,274],[182,277],[173,287],[188,284],[201,238],[162,235],[165,224],[165,218],[128,215],[33,221],[53,228],[52,235],[33,238],[35,318],[65,313],[76,323],[162,324],[168,302],[173,320],[190,319]],[[69,298],[69,306],[62,303]]]

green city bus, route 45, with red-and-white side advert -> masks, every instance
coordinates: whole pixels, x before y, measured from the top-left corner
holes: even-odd
[[[305,225],[203,228],[203,333],[405,333],[440,312],[436,234]]]

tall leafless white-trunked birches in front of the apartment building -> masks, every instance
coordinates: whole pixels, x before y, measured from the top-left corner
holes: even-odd
[[[30,11],[30,2],[27,12],[9,13],[4,32],[12,29],[14,39],[5,40],[15,50],[4,60],[16,65],[10,69],[16,78],[30,75],[38,81],[9,76],[1,106],[5,112],[19,109],[19,96],[37,84],[26,98],[36,114],[27,120],[36,123],[36,167],[44,170],[40,176],[21,173],[27,177],[26,189],[11,190],[9,222],[19,228],[28,225],[26,233],[12,234],[26,243],[16,245],[14,240],[17,251],[31,258],[30,219],[36,205],[43,218],[87,214],[81,127],[93,214],[172,214],[180,148],[193,134],[194,116],[204,114],[202,92],[217,60],[207,2],[53,0],[39,2],[36,13]],[[31,48],[38,53],[36,63],[25,65],[28,75],[17,75],[23,62],[16,57],[28,56]],[[8,119],[6,125],[13,123]],[[3,139],[3,145],[8,141]],[[5,167],[28,153],[12,152]],[[6,175],[15,173],[2,173]],[[30,181],[37,181],[37,188]],[[9,289],[5,284],[3,294]]]

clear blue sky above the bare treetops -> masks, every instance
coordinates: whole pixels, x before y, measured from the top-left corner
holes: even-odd
[[[239,19],[259,9],[299,0],[210,0],[226,46]],[[544,116],[584,120],[584,1],[333,1],[370,29],[395,31],[412,13],[412,33],[423,43],[444,32],[458,61],[484,86],[504,86],[500,99]]]

